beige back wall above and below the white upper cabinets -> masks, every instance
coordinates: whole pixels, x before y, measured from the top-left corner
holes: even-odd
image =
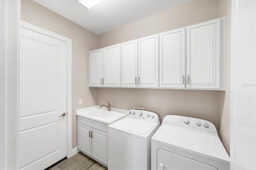
[[[225,2],[218,0],[193,0],[100,34],[99,47],[226,16],[226,8],[228,7],[223,7],[223,5]],[[219,15],[219,8],[222,8],[220,10],[221,15]],[[226,69],[230,69],[230,67],[226,67]],[[227,86],[228,84],[230,81],[227,82]],[[211,121],[218,131],[220,130],[220,123],[222,123],[220,132],[225,136],[222,135],[222,139],[229,152],[229,127],[226,128],[229,126],[229,99],[226,100],[228,95],[220,91],[202,90],[99,88],[98,105],[109,101],[112,107],[116,108],[144,107],[145,110],[158,113],[161,121],[166,115],[197,117]]]

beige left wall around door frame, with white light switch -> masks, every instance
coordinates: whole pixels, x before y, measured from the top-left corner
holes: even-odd
[[[75,148],[76,109],[97,104],[97,89],[88,88],[88,51],[98,48],[98,35],[32,0],[21,0],[21,20],[72,39],[72,148]],[[78,105],[78,99],[83,99],[83,105]]]

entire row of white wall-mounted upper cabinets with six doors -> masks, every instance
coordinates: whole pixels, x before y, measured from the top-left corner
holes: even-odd
[[[224,90],[224,25],[218,18],[90,51],[90,87]]]

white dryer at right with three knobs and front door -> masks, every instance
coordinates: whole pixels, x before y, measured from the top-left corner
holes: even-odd
[[[168,115],[152,136],[152,170],[229,170],[230,158],[215,126]]]

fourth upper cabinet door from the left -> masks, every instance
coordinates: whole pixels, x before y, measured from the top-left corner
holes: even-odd
[[[140,38],[139,87],[158,87],[158,34]]]

